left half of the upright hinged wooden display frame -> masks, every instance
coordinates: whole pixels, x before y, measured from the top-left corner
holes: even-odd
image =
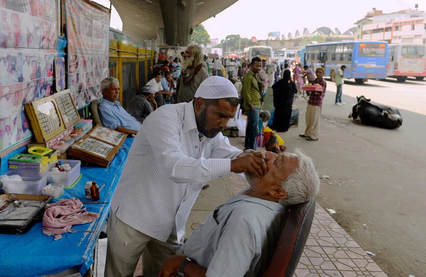
[[[49,106],[48,103],[52,103],[52,106]],[[55,112],[55,116],[53,117],[48,116],[52,108]],[[31,127],[37,142],[45,142],[51,138],[54,138],[66,129],[54,95],[50,95],[39,100],[26,103],[25,111],[31,122]],[[53,126],[54,129],[51,132],[47,133],[47,130],[45,130],[43,126],[51,126],[51,124],[49,125],[48,123],[55,123],[58,124],[58,126],[56,128],[54,128],[55,126]]]

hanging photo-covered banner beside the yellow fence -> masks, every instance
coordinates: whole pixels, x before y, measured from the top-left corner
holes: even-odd
[[[65,0],[68,32],[68,88],[78,109],[102,96],[108,76],[108,9],[87,0]]]

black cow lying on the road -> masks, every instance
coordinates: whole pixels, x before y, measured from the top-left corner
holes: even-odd
[[[361,120],[362,124],[384,129],[396,129],[402,125],[402,116],[398,109],[372,104],[371,99],[364,96],[356,97],[358,103],[352,108],[349,117]]]

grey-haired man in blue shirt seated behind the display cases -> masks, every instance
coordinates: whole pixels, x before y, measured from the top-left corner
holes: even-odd
[[[127,113],[120,102],[117,101],[120,86],[118,80],[106,77],[100,83],[103,100],[100,102],[98,111],[102,124],[105,127],[117,130],[127,135],[138,134],[141,123],[135,117]]]

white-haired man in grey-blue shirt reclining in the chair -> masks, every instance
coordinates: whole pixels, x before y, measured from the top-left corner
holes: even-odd
[[[267,173],[246,173],[250,187],[217,207],[164,262],[159,277],[175,276],[184,262],[187,277],[262,276],[280,240],[286,206],[311,200],[320,185],[314,163],[298,149],[266,152],[265,162]]]

